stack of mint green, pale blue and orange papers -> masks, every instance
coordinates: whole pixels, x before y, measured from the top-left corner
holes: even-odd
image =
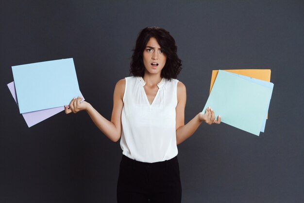
[[[259,135],[265,129],[273,83],[231,72],[220,70],[214,84],[211,81],[211,92],[203,112],[210,106],[216,117],[221,115],[223,123]],[[259,73],[266,78],[263,79],[270,80],[270,70],[241,72]]]

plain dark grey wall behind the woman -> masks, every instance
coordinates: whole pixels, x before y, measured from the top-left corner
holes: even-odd
[[[1,0],[0,202],[116,202],[119,142],[84,112],[28,128],[6,84],[11,66],[73,57],[84,97],[110,119],[115,84],[129,76],[147,26],[176,40],[186,122],[202,110],[212,70],[271,69],[274,83],[259,137],[202,124],[178,146],[183,202],[303,203],[303,0]]]

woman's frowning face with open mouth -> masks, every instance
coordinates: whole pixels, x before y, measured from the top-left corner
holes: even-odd
[[[143,52],[145,73],[160,74],[166,64],[167,56],[159,46],[156,38],[151,37]]]

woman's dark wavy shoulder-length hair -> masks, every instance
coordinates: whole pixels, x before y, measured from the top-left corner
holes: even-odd
[[[169,32],[160,27],[146,27],[138,35],[135,49],[133,50],[130,64],[130,74],[144,76],[145,66],[143,63],[143,52],[151,37],[155,37],[164,54],[167,56],[166,64],[161,72],[161,77],[166,79],[177,78],[182,70],[182,60],[177,56],[177,46],[174,38]]]

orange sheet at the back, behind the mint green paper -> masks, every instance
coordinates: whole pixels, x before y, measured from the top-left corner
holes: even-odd
[[[255,79],[265,80],[267,82],[270,82],[270,74],[271,74],[270,69],[237,69],[237,70],[223,70],[223,71],[227,71],[227,72],[234,73],[234,74],[245,75],[247,77],[252,77]],[[212,71],[210,92],[212,90],[214,81],[217,78],[218,73],[219,73],[219,70]],[[267,119],[268,119],[268,115],[267,115]]]

